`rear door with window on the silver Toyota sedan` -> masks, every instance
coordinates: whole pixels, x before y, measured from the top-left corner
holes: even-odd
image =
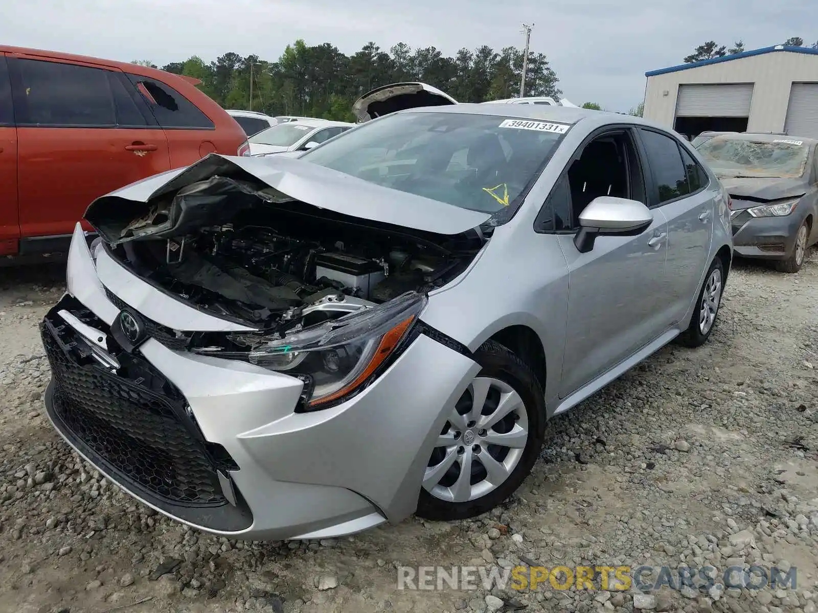
[[[640,128],[653,189],[651,206],[667,218],[667,296],[671,300],[668,326],[676,324],[699,295],[699,284],[710,262],[714,192],[707,173],[680,141],[657,130]]]

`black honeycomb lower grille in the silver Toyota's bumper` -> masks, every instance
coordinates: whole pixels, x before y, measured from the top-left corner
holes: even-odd
[[[226,503],[205,441],[185,423],[181,392],[140,356],[119,353],[117,374],[98,365],[88,347],[76,342],[74,329],[52,315],[56,308],[41,331],[58,427],[125,484],[175,504]],[[107,332],[100,320],[88,320],[88,311],[83,319]]]

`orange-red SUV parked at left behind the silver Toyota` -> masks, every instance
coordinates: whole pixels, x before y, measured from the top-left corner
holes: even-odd
[[[0,45],[0,255],[63,251],[98,196],[210,153],[249,153],[196,83]]]

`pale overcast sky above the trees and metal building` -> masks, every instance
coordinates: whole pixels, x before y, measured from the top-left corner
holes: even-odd
[[[569,101],[627,111],[642,101],[645,71],[681,64],[705,41],[729,48],[740,38],[748,50],[791,36],[814,43],[814,2],[25,0],[2,11],[0,42],[160,66],[227,51],[276,60],[298,38],[347,54],[374,41],[387,51],[403,42],[452,56],[483,44],[523,47],[527,23],[531,50],[548,56]]]

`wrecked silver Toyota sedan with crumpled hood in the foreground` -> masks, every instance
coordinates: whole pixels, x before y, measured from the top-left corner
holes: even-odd
[[[240,539],[473,517],[551,418],[712,333],[730,212],[688,143],[561,106],[394,106],[88,208],[46,403],[111,481]]]

